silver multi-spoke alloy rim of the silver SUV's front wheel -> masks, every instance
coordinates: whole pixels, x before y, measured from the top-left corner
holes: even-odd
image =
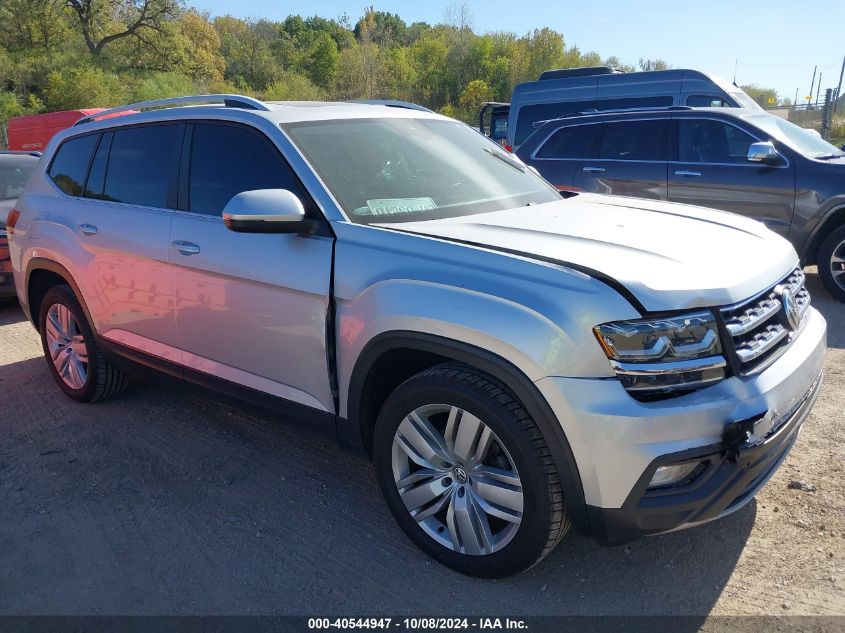
[[[445,404],[412,411],[394,435],[392,466],[405,508],[444,547],[482,556],[516,534],[519,473],[498,436],[468,411]]]

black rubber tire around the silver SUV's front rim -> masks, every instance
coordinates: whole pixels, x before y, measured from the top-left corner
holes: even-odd
[[[400,497],[393,475],[394,435],[410,412],[434,403],[457,406],[483,420],[519,473],[524,495],[521,523],[498,551],[473,556],[438,543],[420,527]],[[499,578],[524,571],[554,549],[569,530],[560,478],[543,435],[502,383],[472,367],[446,363],[400,385],[376,421],[373,458],[379,486],[400,527],[432,558],[463,574]]]

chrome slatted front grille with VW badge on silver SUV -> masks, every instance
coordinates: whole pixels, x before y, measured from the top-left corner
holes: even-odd
[[[795,297],[803,319],[810,307],[810,293],[804,287],[804,273],[800,267],[762,295],[722,310],[744,374],[757,371],[774,360],[795,337],[784,313],[784,290],[789,290]]]

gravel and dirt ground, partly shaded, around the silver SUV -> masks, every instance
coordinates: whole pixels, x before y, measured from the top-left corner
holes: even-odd
[[[624,547],[570,535],[499,581],[430,562],[368,462],[277,420],[163,377],[70,401],[0,309],[0,614],[845,615],[845,305],[808,277],[826,382],[755,501]]]

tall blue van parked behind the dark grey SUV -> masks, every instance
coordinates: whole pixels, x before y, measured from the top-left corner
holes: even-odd
[[[762,111],[741,88],[697,70],[678,68],[626,73],[597,66],[548,70],[537,81],[519,84],[513,90],[509,107],[506,104],[493,106],[492,123],[498,123],[498,126],[485,126],[483,108],[479,124],[481,132],[491,138],[504,135],[505,147],[515,151],[534,132],[537,121],[587,110],[673,105]],[[507,115],[506,126],[498,120],[504,114]]]

